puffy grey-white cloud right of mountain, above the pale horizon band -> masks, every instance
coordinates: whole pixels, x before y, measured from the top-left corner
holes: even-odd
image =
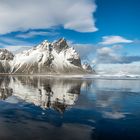
[[[93,63],[98,64],[129,64],[133,62],[140,62],[139,55],[129,56],[127,54],[122,55],[122,45],[116,45],[112,47],[100,47],[96,50],[96,57],[93,59]]]

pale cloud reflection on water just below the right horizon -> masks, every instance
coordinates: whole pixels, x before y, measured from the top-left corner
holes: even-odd
[[[120,91],[122,92],[132,92],[132,93],[139,93],[140,91],[140,81],[138,80],[96,80],[95,85],[97,89],[100,89],[104,92],[99,92],[101,95],[112,95],[113,97],[117,97],[120,95]],[[119,94],[116,92],[119,92]],[[99,94],[99,95],[100,95]]]

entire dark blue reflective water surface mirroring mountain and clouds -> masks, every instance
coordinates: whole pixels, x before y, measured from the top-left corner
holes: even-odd
[[[139,140],[140,80],[0,77],[2,140]]]

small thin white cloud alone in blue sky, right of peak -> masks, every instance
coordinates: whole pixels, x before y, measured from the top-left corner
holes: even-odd
[[[104,36],[102,37],[103,41],[100,42],[102,45],[111,45],[117,43],[132,43],[132,40],[125,39],[121,36]]]

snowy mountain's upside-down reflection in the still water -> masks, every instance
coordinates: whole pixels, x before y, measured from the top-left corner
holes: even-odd
[[[12,102],[13,98],[16,98],[15,100],[33,103],[42,109],[53,108],[63,113],[67,107],[75,104],[82,84],[89,83],[70,79],[3,77],[0,98],[8,102]]]

